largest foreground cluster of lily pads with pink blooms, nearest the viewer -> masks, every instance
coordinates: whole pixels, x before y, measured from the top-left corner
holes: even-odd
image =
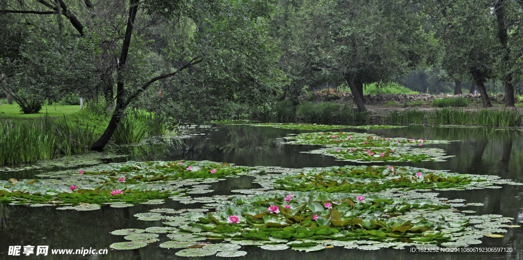
[[[167,233],[170,241],[160,247],[187,248],[178,251],[179,256],[242,256],[246,252],[238,251],[241,246],[304,252],[333,246],[362,250],[438,244],[457,247],[479,244],[477,239],[482,236],[506,232],[501,227],[513,227],[503,224],[511,218],[465,216],[450,204],[430,199],[309,191],[238,196],[232,202],[207,214],[207,209],[151,210],[176,216],[156,213],[156,220],[167,220],[164,227],[113,231],[127,235],[124,239],[129,242],[115,243],[111,248],[142,247],[158,241],[162,233]],[[151,213],[137,217],[144,214]],[[472,227],[471,223],[479,225]]]

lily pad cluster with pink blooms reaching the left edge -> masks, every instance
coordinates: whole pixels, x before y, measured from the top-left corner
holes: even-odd
[[[132,202],[157,204],[169,196],[180,196],[182,191],[185,192],[182,195],[211,192],[206,190],[208,185],[199,184],[253,174],[253,170],[209,161],[110,163],[37,175],[51,177],[45,179],[2,180],[0,201],[14,205],[66,205],[59,209],[77,210],[94,210],[99,205],[128,207]],[[199,187],[181,188],[189,185]],[[93,205],[85,206],[88,204]]]

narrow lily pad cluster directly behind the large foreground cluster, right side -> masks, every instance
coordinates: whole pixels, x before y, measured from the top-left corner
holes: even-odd
[[[303,169],[300,173],[274,174],[275,189],[325,191],[328,193],[380,193],[404,191],[499,188],[493,184],[514,184],[498,176],[432,171],[409,166],[343,166]]]

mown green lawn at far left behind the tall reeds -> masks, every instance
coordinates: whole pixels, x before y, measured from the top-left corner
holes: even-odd
[[[4,119],[39,119],[45,117],[47,112],[50,118],[60,118],[64,115],[66,117],[71,116],[78,111],[80,111],[80,106],[51,105],[43,106],[38,114],[24,115],[24,113],[20,112],[18,105],[3,104],[0,106],[0,117]]]

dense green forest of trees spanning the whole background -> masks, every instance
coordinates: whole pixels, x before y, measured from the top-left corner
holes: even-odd
[[[93,149],[131,108],[179,125],[325,83],[360,111],[391,82],[512,107],[522,16],[523,0],[0,0],[0,85],[26,114],[78,97],[113,111]]]

